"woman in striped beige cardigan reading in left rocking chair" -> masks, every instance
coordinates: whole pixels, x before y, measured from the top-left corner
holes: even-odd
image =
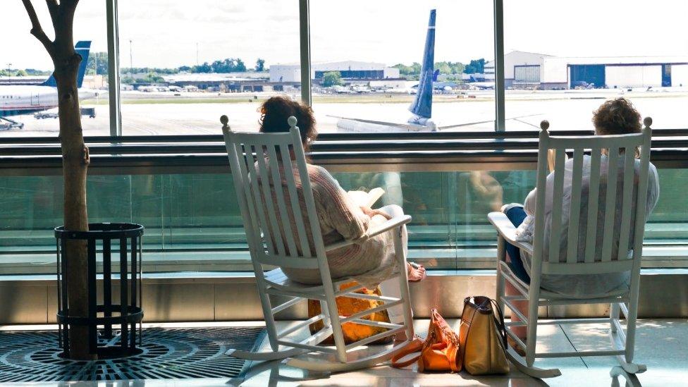
[[[262,115],[260,120],[261,133],[288,133],[290,128],[287,119],[294,116],[297,119],[301,142],[306,151],[317,137],[315,118],[309,106],[304,106],[285,97],[271,97],[262,104],[259,112]],[[293,167],[296,168],[295,165]],[[390,205],[381,209],[358,206],[325,168],[307,164],[307,169],[325,245],[342,240],[357,240],[369,228],[384,223],[394,216],[403,215],[403,210],[397,205]],[[300,176],[296,169],[294,176],[297,189],[299,189]],[[299,195],[299,199],[303,201],[302,195]],[[306,214],[304,202],[301,202],[301,209]],[[279,216],[279,214],[277,215]],[[294,223],[293,219],[290,221]],[[295,225],[293,225],[292,230],[296,230]],[[309,228],[307,228],[306,233],[312,244],[313,239]],[[295,238],[298,238],[297,235]],[[403,245],[405,247],[407,245],[405,228],[403,229]],[[381,233],[363,242],[328,251],[327,261],[333,278],[351,277],[358,283],[370,288],[374,288],[402,269],[408,271],[409,281],[420,281],[425,277],[425,269],[421,265],[407,262],[405,268],[397,267],[391,232]],[[321,283],[320,273],[317,269],[283,268],[283,271],[293,281],[311,284]],[[383,286],[383,292],[385,292],[385,288],[386,286]],[[389,288],[391,292],[394,292],[393,288],[398,289],[398,286]],[[393,314],[392,310],[390,310],[390,314]]]

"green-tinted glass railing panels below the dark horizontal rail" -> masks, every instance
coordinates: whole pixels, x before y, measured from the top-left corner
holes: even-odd
[[[227,168],[228,169],[228,168]],[[378,204],[413,216],[410,259],[436,269],[494,266],[486,214],[522,202],[532,170],[333,173],[345,190],[386,190]],[[659,170],[660,200],[646,226],[644,266],[688,267],[688,169]],[[61,176],[0,177],[0,274],[54,273]],[[92,175],[91,222],[146,227],[145,271],[244,271],[249,254],[231,174]]]

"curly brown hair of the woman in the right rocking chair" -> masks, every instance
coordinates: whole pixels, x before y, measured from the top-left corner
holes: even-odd
[[[640,133],[640,113],[623,98],[610,99],[593,112],[592,122],[598,135]]]

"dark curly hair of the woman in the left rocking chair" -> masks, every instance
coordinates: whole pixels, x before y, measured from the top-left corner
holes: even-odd
[[[307,151],[310,142],[315,140],[318,132],[315,128],[315,116],[310,106],[302,105],[287,97],[270,97],[258,109],[261,113],[261,133],[288,133],[290,116],[296,117],[296,125],[301,133],[301,142]]]

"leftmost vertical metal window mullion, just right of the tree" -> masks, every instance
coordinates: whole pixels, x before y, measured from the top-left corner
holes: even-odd
[[[119,14],[118,0],[106,0],[108,39],[108,94],[110,106],[110,135],[122,135],[122,116],[119,80]]]

